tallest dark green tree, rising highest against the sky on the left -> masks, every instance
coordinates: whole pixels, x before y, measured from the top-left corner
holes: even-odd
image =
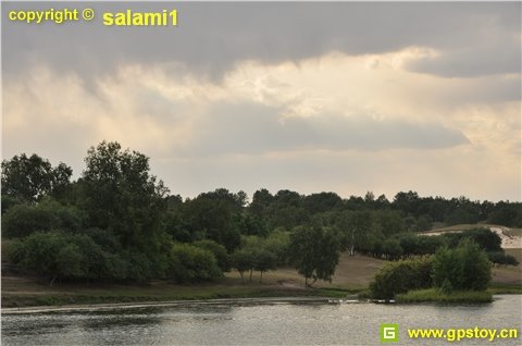
[[[160,231],[167,188],[149,173],[149,158],[102,141],[88,150],[83,207],[90,226],[114,232],[123,246],[144,249]]]

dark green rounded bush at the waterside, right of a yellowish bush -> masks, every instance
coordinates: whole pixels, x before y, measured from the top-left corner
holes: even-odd
[[[484,291],[492,280],[492,269],[486,252],[464,239],[455,249],[442,248],[435,254],[432,277],[435,286],[445,291]]]

